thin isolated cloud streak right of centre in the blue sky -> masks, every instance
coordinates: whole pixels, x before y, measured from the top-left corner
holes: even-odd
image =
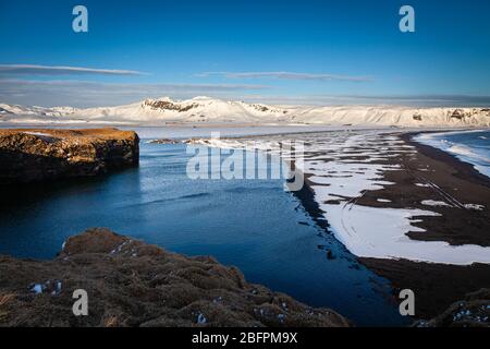
[[[305,81],[346,81],[369,82],[370,76],[351,76],[338,74],[314,74],[295,72],[204,72],[196,74],[199,77],[224,76],[226,79],[279,79],[279,80],[305,80]]]

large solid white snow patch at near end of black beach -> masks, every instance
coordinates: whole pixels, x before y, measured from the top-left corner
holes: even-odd
[[[360,205],[320,207],[327,213],[329,222],[335,227],[335,237],[357,256],[456,265],[490,263],[489,248],[452,246],[443,241],[418,241],[408,238],[406,233],[409,231],[425,231],[413,226],[414,217],[438,216],[437,213]]]

